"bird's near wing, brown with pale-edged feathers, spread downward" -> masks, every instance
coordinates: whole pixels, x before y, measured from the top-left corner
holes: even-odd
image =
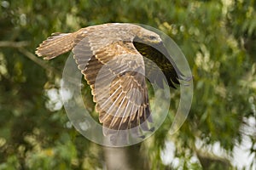
[[[143,56],[132,42],[78,36],[74,59],[90,84],[103,127],[129,129],[150,122]],[[142,128],[148,126],[143,123]],[[145,126],[144,126],[145,125]]]

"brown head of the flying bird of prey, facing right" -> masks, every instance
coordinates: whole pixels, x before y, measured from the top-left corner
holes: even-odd
[[[160,36],[155,33],[154,31],[146,30],[142,27],[137,31],[136,37],[134,38],[135,42],[143,42],[148,45],[152,44],[159,44],[162,42]]]

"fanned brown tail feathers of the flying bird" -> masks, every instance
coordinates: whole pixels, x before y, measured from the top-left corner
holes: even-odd
[[[67,53],[73,48],[72,33],[53,33],[51,37],[42,42],[37,48],[36,54],[44,59],[53,59],[60,54]]]

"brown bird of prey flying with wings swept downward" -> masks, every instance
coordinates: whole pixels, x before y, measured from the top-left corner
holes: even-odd
[[[166,58],[160,35],[135,24],[107,23],[73,33],[56,32],[39,44],[35,54],[54,59],[69,51],[90,85],[104,129],[142,126],[150,130],[143,126],[143,122],[152,122],[145,75],[154,77],[160,88],[164,85],[148,59],[160,68],[169,87],[176,88],[183,77],[175,62]]]

